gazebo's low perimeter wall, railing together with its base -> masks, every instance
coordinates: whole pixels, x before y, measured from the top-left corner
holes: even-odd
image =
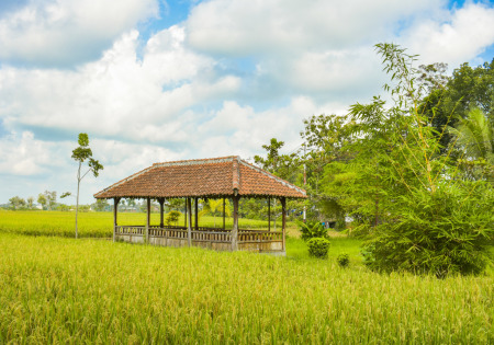
[[[232,230],[223,228],[193,228],[190,232],[193,246],[215,251],[232,251]],[[115,227],[115,241],[145,243],[145,226]],[[147,243],[162,246],[189,246],[188,229],[173,226],[150,226]],[[237,249],[260,253],[283,253],[282,231],[238,229]]]

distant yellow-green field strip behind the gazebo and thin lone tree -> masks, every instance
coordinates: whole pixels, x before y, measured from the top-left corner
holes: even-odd
[[[75,212],[63,211],[0,211],[0,232],[13,232],[32,235],[61,235],[75,237]],[[159,214],[151,214],[151,225],[159,225]],[[146,214],[119,212],[120,226],[144,226]],[[183,225],[183,216],[178,225]],[[202,227],[222,227],[223,218],[203,216],[199,220]],[[226,218],[226,227],[232,227],[233,219]],[[268,222],[263,220],[239,219],[244,229],[267,229]],[[293,227],[292,223],[289,226]],[[271,226],[272,227],[272,226]],[[278,221],[278,228],[280,221]],[[79,212],[79,237],[110,238],[113,231],[112,212]],[[293,230],[289,233],[295,233]]]

